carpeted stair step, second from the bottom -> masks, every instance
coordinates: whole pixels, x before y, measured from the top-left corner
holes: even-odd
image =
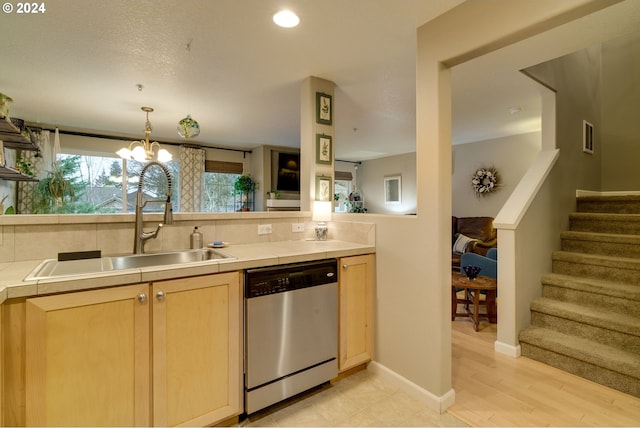
[[[640,317],[627,313],[542,297],[531,303],[531,323],[640,356]]]

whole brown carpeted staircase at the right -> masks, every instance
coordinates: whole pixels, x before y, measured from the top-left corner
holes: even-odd
[[[522,355],[640,397],[640,196],[579,197]]]

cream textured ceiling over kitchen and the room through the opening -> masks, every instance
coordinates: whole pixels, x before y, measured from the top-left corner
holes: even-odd
[[[336,159],[413,152],[416,29],[461,2],[56,0],[0,16],[0,92],[13,117],[61,128],[139,137],[151,106],[155,139],[191,114],[203,146],[299,147],[317,76],[336,84]],[[298,27],[273,24],[283,8]],[[454,143],[540,129],[538,89],[512,65],[454,72]]]

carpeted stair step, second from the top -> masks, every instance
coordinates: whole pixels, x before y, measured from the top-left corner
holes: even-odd
[[[569,229],[577,232],[640,235],[640,214],[571,213]]]

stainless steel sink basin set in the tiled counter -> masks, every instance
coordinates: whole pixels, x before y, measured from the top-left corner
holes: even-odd
[[[207,260],[235,260],[236,257],[213,248],[171,251],[165,253],[134,254],[129,256],[100,257],[83,260],[56,259],[40,263],[27,280],[48,279],[62,276],[83,275],[123,269],[139,269],[151,266],[181,265]]]

